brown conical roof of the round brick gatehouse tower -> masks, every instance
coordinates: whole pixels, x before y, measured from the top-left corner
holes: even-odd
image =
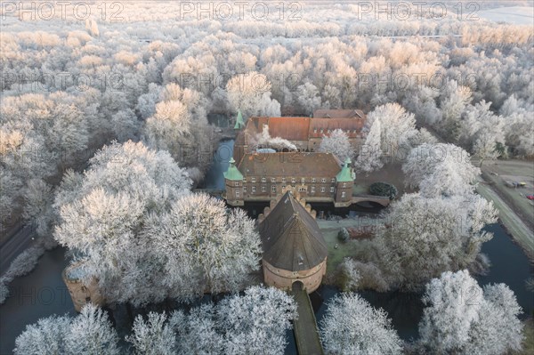
[[[287,191],[259,225],[263,259],[290,271],[310,270],[323,262],[328,247],[317,222]]]

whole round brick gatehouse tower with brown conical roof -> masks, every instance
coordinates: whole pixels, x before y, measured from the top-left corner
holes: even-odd
[[[291,290],[296,282],[311,294],[327,271],[328,247],[315,211],[293,188],[271,201],[258,218],[266,285]]]

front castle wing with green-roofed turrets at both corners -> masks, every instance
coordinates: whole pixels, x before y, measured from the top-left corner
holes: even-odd
[[[292,187],[308,202],[352,204],[352,167],[331,153],[247,153],[239,165],[233,158],[224,173],[226,202],[271,201]]]

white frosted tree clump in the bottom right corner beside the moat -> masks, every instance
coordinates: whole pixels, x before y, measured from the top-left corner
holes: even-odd
[[[499,355],[522,348],[521,307],[505,284],[482,289],[467,270],[426,285],[420,343],[437,354]]]

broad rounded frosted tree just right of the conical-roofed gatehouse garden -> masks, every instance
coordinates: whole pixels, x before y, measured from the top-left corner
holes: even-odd
[[[407,194],[385,215],[377,232],[379,264],[393,284],[417,288],[441,272],[465,269],[492,238],[482,230],[497,221],[492,204],[478,195],[422,198]]]

